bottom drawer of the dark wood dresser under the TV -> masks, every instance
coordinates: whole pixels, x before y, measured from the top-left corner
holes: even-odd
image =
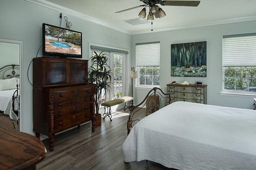
[[[58,132],[59,130],[68,129],[70,127],[74,127],[75,125],[80,125],[90,120],[91,120],[91,115],[78,113],[76,115],[72,115],[63,119],[54,120],[54,130]]]

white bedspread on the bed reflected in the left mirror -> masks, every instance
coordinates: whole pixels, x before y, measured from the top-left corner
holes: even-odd
[[[16,89],[0,91],[0,111],[4,111],[5,115],[9,115],[10,119],[18,120],[17,115],[12,110],[12,95]],[[18,102],[15,101],[14,109],[18,111]]]

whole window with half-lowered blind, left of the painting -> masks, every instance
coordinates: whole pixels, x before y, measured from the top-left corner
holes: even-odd
[[[160,86],[160,42],[136,43],[137,86]]]

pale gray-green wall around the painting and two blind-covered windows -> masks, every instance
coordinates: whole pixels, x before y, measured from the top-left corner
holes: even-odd
[[[166,84],[176,79],[179,83],[185,80],[191,84],[203,81],[207,87],[207,104],[226,107],[252,109],[252,97],[220,96],[222,91],[222,36],[255,32],[256,21],[204,26],[166,32],[132,36],[132,63],[135,65],[135,44],[160,41],[160,88],[167,93]],[[188,42],[207,42],[207,77],[171,77],[170,53],[171,44]],[[140,103],[148,89],[135,88],[135,103]],[[255,96],[254,96],[255,97]]]

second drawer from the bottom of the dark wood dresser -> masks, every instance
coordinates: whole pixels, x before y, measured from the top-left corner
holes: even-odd
[[[54,120],[62,119],[64,117],[69,117],[70,115],[75,115],[77,113],[85,113],[86,115],[90,115],[91,104],[87,103],[85,105],[78,105],[74,107],[68,107],[61,110],[53,111]]]

